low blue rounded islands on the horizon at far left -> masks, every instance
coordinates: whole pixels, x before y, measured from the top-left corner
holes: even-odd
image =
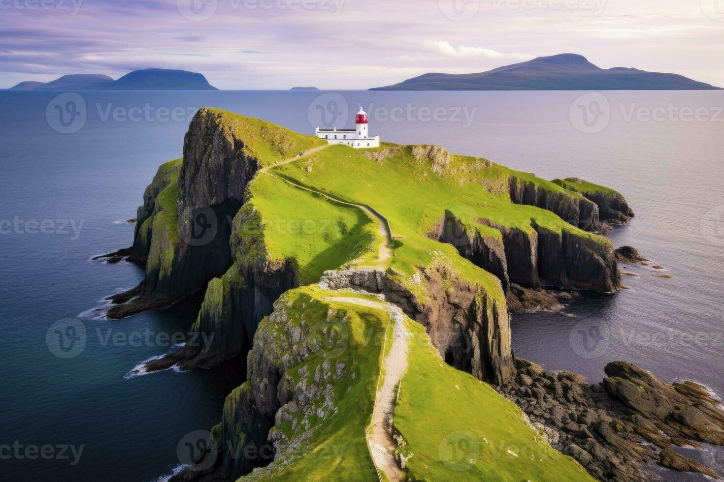
[[[11,90],[218,90],[198,72],[134,70],[118,80],[103,74],[69,74],[51,82],[20,82]]]

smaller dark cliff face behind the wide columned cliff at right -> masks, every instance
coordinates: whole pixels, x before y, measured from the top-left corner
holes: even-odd
[[[557,189],[555,186],[547,188],[526,178],[510,175],[508,194],[515,204],[537,206],[555,212],[559,218],[584,231],[597,233],[603,230],[597,205],[583,196],[569,194],[565,189]]]

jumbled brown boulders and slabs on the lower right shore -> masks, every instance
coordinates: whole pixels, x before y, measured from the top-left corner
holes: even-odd
[[[695,446],[696,441],[724,444],[724,412],[701,385],[665,384],[624,361],[609,363],[609,376],[596,385],[565,371],[547,373],[521,358],[516,368],[515,380],[498,390],[523,409],[554,448],[578,460],[595,478],[646,481],[644,465],[652,461],[712,475],[709,468],[669,449],[671,444]]]

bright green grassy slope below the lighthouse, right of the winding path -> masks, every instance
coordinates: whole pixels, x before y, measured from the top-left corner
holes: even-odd
[[[464,176],[460,175],[461,171],[450,174],[450,165],[456,156],[452,156],[448,168],[441,169],[435,158],[438,152],[434,148],[430,151],[428,147],[417,146],[383,145],[378,149],[354,150],[332,145],[309,158],[272,167],[269,173],[337,199],[369,205],[382,213],[389,220],[395,237],[390,267],[405,277],[414,275],[418,267],[440,263],[452,267],[454,272],[471,283],[484,285],[490,293],[500,292],[497,278],[461,258],[450,244],[429,238],[429,233],[437,229],[446,211],[485,236],[502,236],[499,229],[489,225],[531,233],[534,231],[533,220],[550,231],[569,231],[602,245],[610,244],[606,238],[581,231],[550,211],[514,204],[510,202],[507,189],[488,191],[481,180],[507,186],[508,176],[515,173],[518,178],[529,176],[543,187],[552,186],[551,189],[564,191],[550,181],[510,171],[500,165],[486,165],[483,160],[480,160],[477,171],[471,168],[465,171]],[[473,158],[467,159],[466,165],[475,165],[471,161]],[[256,189],[257,183],[267,182],[254,180],[251,188]],[[282,184],[277,184],[281,189]],[[296,212],[304,216],[307,212],[303,204],[306,196],[299,196],[300,189],[295,191]],[[279,202],[278,198],[276,202]],[[306,236],[309,244],[320,243],[316,233],[301,233],[300,236]],[[279,241],[282,244],[301,242],[291,238]],[[331,242],[322,244],[319,249],[335,249]]]

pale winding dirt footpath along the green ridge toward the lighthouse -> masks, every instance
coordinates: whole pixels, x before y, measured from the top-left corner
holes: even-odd
[[[366,215],[378,223],[379,236],[384,240],[379,244],[379,253],[377,254],[376,263],[388,264],[390,258],[392,257],[392,229],[390,228],[390,222],[387,218],[377,212],[373,207],[343,201],[342,199],[335,199],[328,194],[324,194],[324,192],[297,184],[290,179],[269,173],[270,168],[303,159],[306,156],[319,152],[326,147],[328,147],[328,145],[314,147],[313,149],[306,151],[303,156],[282,160],[279,163],[268,165],[266,168],[262,168],[260,172],[266,174],[267,176],[285,181],[287,184],[290,184],[298,189],[303,189],[304,191],[317,194],[331,202],[356,207],[365,212]],[[355,304],[358,306],[384,309],[384,311],[387,311],[387,313],[390,314],[390,321],[387,322],[387,326],[384,330],[384,344],[382,345],[381,356],[384,356],[384,353],[387,351],[387,332],[390,330],[390,327],[392,328],[392,346],[390,347],[390,351],[387,353],[387,356],[384,356],[382,365],[379,367],[374,409],[372,411],[372,420],[367,427],[366,439],[367,447],[369,448],[372,462],[374,462],[375,469],[377,470],[379,481],[383,481],[381,473],[384,473],[387,481],[403,481],[405,478],[405,472],[400,469],[400,466],[397,465],[397,460],[395,459],[397,442],[392,436],[392,421],[395,416],[395,403],[397,401],[397,391],[395,389],[402,381],[403,376],[408,369],[408,337],[410,334],[405,328],[405,315],[399,307],[390,303],[383,303],[382,301],[371,301],[369,299],[358,298],[356,296],[330,296],[325,299],[335,301],[337,303]]]

